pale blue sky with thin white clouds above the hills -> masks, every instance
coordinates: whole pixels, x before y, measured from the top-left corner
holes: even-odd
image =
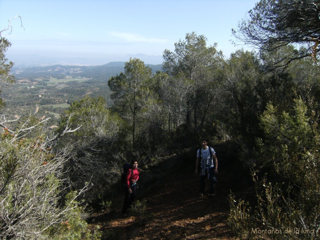
[[[162,56],[187,33],[204,35],[226,57],[231,28],[258,0],[0,0],[0,30],[12,20],[8,54],[114,58]],[[247,49],[247,47],[244,47]],[[249,49],[250,50],[250,49]],[[161,62],[159,62],[161,63]]]

